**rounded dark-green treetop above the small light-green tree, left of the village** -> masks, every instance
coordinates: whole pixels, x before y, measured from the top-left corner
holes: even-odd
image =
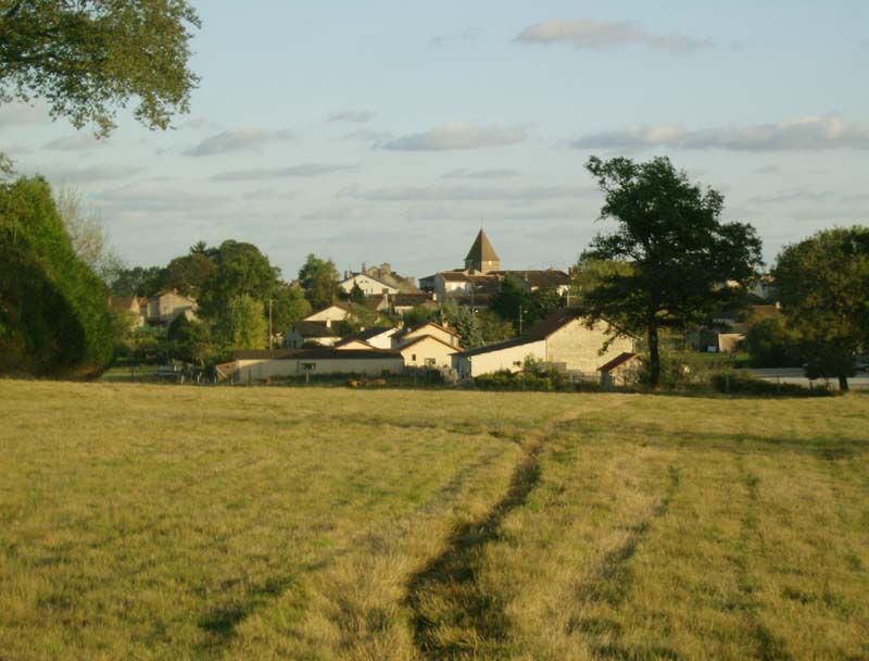
[[[240,296],[265,303],[278,289],[280,271],[252,244],[224,241],[213,259],[214,273],[203,284],[198,301],[205,317],[217,319],[229,301]]]

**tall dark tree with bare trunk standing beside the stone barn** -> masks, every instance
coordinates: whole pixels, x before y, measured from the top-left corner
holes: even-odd
[[[617,260],[629,269],[601,274],[580,307],[590,322],[620,324],[615,333],[645,335],[650,383],[657,387],[659,332],[700,323],[730,300],[756,275],[760,239],[748,224],[722,223],[723,196],[692,185],[667,158],[591,157],[585,167],[604,192],[601,220],[615,220],[618,229],[595,236],[581,260]]]

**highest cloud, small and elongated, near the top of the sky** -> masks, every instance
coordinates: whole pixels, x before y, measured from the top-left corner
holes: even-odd
[[[578,49],[638,45],[669,53],[691,52],[711,46],[708,39],[695,39],[676,33],[650,33],[638,23],[595,18],[559,18],[534,23],[519,33],[516,40],[525,43],[569,43]]]

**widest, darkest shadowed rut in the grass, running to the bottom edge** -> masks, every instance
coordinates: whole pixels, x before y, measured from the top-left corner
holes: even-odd
[[[524,506],[540,481],[539,450],[534,446],[516,466],[507,492],[482,519],[454,531],[444,551],[411,576],[406,603],[414,613],[414,643],[424,658],[476,657],[481,644],[506,638],[506,615],[480,588],[478,563],[484,545],[498,539],[503,517]],[[446,637],[446,631],[462,635]]]

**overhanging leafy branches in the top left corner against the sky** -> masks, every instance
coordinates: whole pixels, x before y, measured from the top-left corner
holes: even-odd
[[[136,119],[166,128],[187,112],[199,78],[188,68],[199,17],[185,0],[0,0],[0,100],[48,101],[76,128]]]

